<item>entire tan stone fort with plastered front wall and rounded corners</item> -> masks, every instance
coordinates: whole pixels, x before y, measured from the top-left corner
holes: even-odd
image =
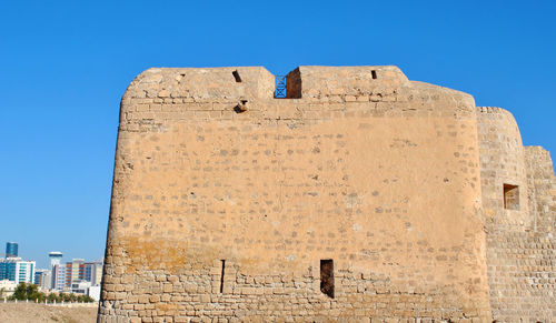
[[[149,69],[121,101],[99,323],[556,322],[556,176],[396,67]]]

